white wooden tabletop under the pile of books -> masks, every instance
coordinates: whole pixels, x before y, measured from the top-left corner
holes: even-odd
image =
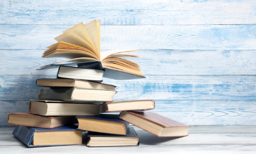
[[[0,153],[256,153],[256,126],[191,126],[189,136],[182,138],[158,138],[134,128],[138,147],[27,148],[13,137],[14,127],[0,127]]]

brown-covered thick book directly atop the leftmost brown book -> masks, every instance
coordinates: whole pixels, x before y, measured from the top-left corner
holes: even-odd
[[[29,112],[43,116],[99,115],[101,104],[47,100],[30,100]]]

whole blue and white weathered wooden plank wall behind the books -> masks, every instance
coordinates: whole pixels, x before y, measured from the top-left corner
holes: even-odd
[[[0,1],[0,126],[28,111],[54,37],[101,20],[101,49],[139,49],[147,78],[105,83],[186,124],[256,124],[256,1]]]

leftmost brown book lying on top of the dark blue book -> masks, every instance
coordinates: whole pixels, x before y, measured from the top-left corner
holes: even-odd
[[[15,112],[8,114],[8,123],[14,125],[39,127],[39,128],[56,128],[67,124],[77,123],[75,116],[55,116],[45,117],[28,112]]]

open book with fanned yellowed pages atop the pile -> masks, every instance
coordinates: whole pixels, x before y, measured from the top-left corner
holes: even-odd
[[[85,66],[85,68],[88,68],[87,64],[96,62],[98,68],[124,72],[140,78],[144,77],[138,64],[124,59],[125,57],[138,57],[131,54],[124,54],[124,52],[136,50],[100,52],[99,22],[99,20],[94,20],[85,25],[79,23],[64,31],[63,34],[55,38],[58,42],[50,45],[42,57],[65,57],[68,59],[50,65],[67,65],[69,63],[70,65],[77,64],[79,67]],[[43,66],[42,68],[47,66],[49,65]],[[109,73],[113,72],[110,71]]]

